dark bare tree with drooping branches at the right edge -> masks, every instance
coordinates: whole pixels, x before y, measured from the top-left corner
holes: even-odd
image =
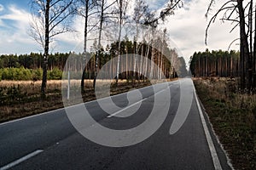
[[[208,16],[209,12],[212,10],[212,4],[215,3],[214,0],[211,0],[209,7],[207,8]],[[245,4],[244,4],[245,3]],[[255,37],[253,43],[253,31],[255,31],[255,27],[253,30],[253,1],[244,2],[242,0],[230,0],[225,2],[216,14],[214,14],[209,21],[206,30],[206,44],[207,44],[207,34],[212,23],[218,18],[219,14],[223,14],[220,20],[223,21],[231,21],[232,23],[236,23],[236,26],[231,30],[233,31],[237,26],[239,26],[240,30],[240,65],[241,65],[241,88],[247,88],[247,92],[250,93],[252,88],[255,86],[252,82],[256,82],[255,75],[255,65],[253,60],[256,57],[255,52]],[[255,14],[256,15],[256,14]],[[247,20],[248,17],[248,20]],[[256,21],[255,21],[256,23]],[[256,35],[256,34],[255,34]]]

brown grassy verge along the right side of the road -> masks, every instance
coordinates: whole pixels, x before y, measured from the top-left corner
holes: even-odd
[[[256,94],[234,78],[194,78],[196,92],[235,169],[256,168]]]

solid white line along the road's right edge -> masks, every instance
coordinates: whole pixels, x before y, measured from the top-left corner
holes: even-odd
[[[193,83],[193,88],[194,88],[194,94],[195,94],[195,101],[196,101],[197,108],[198,108],[198,111],[199,111],[200,117],[201,117],[201,123],[202,123],[202,126],[204,128],[204,131],[205,131],[205,134],[206,134],[206,137],[207,137],[207,143],[209,145],[209,149],[210,149],[210,152],[211,152],[213,165],[214,165],[216,170],[222,170],[222,167],[221,167],[220,162],[218,160],[218,154],[216,152],[216,149],[215,149],[214,144],[212,142],[211,134],[210,134],[209,129],[207,127],[207,122],[205,120],[205,117],[203,116],[203,113],[201,111],[201,105],[199,104],[199,101],[197,99],[197,95],[195,93],[194,83]]]

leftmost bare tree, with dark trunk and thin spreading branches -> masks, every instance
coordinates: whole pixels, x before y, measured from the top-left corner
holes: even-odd
[[[49,43],[54,37],[72,30],[73,0],[32,0],[32,22],[29,35],[44,48],[41,93],[45,95]]]

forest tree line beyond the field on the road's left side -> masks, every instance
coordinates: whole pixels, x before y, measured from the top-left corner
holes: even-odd
[[[167,43],[158,38],[158,41],[154,42],[154,46],[165,46],[165,48],[148,46],[146,43],[133,42],[127,37],[124,41],[113,42],[110,45],[106,45],[105,48],[101,48],[100,51],[96,51],[97,48],[92,47],[90,52],[87,52],[91,56],[87,65],[84,67],[84,54],[76,54],[74,52],[69,53],[55,53],[49,54],[48,58],[48,79],[61,79],[62,71],[67,66],[68,70],[73,74],[73,78],[79,79],[84,72],[85,79],[94,79],[97,69],[101,70],[103,65],[106,65],[108,61],[116,57],[116,54],[120,48],[120,55],[131,54],[125,61],[119,62],[120,70],[127,70],[119,73],[120,79],[145,79],[143,75],[135,72],[135,67],[141,73],[150,72],[152,69],[152,63],[147,60],[137,59],[137,55],[141,55],[146,59],[150,59],[154,62],[154,65],[158,65],[159,69],[154,70],[152,74],[154,77],[161,78],[161,72],[163,72],[166,78],[185,77],[187,75],[186,64],[183,58],[179,58],[177,50],[174,48],[168,48]],[[95,42],[96,44],[96,42]],[[164,51],[160,51],[160,48]],[[137,50],[137,54],[135,51]],[[67,59],[72,59],[68,60]],[[96,67],[97,58],[97,67]],[[0,79],[2,80],[42,80],[43,79],[43,65],[44,54],[9,54],[0,55]],[[174,66],[175,65],[175,66]],[[116,63],[111,63],[111,68],[105,70],[106,72],[117,72]],[[105,68],[107,69],[107,68]],[[116,77],[115,77],[116,78]]]

